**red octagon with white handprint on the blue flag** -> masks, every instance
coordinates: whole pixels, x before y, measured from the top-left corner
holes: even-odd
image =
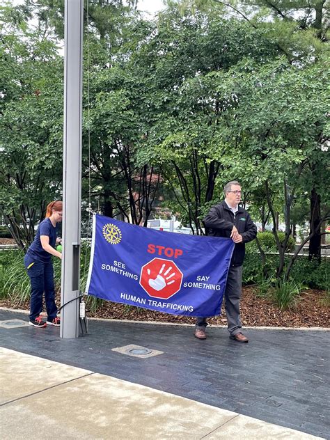
[[[168,299],[180,290],[182,278],[175,262],[154,258],[141,267],[140,285],[150,297]]]

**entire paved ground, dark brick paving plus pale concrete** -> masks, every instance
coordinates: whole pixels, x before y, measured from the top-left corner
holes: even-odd
[[[27,316],[0,311],[10,319]],[[1,438],[327,438],[327,331],[253,329],[247,345],[226,329],[200,341],[187,326],[100,320],[58,333],[0,327]]]

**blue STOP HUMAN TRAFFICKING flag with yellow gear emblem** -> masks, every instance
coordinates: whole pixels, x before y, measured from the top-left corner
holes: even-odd
[[[86,292],[173,315],[221,312],[234,242],[151,230],[95,214]]]

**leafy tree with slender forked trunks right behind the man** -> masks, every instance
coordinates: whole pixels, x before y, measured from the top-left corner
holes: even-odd
[[[227,160],[230,162],[231,157],[234,175],[254,192],[265,194],[280,256],[278,278],[285,271],[284,253],[291,234],[290,215],[297,191],[316,187],[322,191],[324,205],[329,206],[329,194],[324,191],[324,179],[330,178],[329,155],[320,148],[320,134],[325,136],[327,129],[324,102],[329,73],[327,59],[301,69],[279,58],[265,66],[246,61],[228,74],[217,75],[217,90],[223,99],[232,101],[228,111],[233,115],[230,129],[236,142],[231,152],[227,149]],[[322,173],[315,173],[314,164],[321,163]],[[274,202],[278,200],[284,205],[283,243],[276,229]],[[320,221],[305,242],[320,230],[329,214],[329,210],[320,214]],[[286,269],[285,278],[298,251]]]

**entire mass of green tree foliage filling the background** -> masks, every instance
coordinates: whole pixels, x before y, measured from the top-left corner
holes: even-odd
[[[140,223],[162,194],[164,208],[203,233],[221,187],[238,179],[263,224],[269,210],[283,212],[287,230],[304,223],[312,189],[325,214],[329,7],[320,4],[169,1],[148,22],[121,0],[89,2],[83,197],[90,171],[95,210]],[[46,202],[61,194],[63,59],[55,36],[63,36],[63,1],[7,3],[0,15],[0,200],[23,248]],[[270,237],[262,240],[276,251]],[[246,267],[246,280],[260,276],[260,264]],[[273,277],[276,265],[267,265],[261,273]]]

